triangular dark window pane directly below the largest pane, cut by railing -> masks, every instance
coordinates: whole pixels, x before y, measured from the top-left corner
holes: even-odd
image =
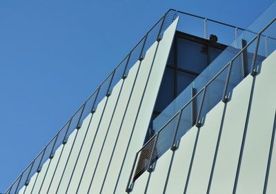
[[[190,83],[194,81],[196,75],[182,72],[180,70],[177,71],[177,95],[179,95],[185,88],[187,88]]]

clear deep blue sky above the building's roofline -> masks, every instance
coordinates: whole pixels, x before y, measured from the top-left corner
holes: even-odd
[[[272,0],[0,0],[0,193],[168,8],[246,28]]]

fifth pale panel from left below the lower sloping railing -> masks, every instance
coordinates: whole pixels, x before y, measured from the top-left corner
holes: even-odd
[[[253,77],[246,77],[227,104],[210,193],[233,193],[252,84]]]

